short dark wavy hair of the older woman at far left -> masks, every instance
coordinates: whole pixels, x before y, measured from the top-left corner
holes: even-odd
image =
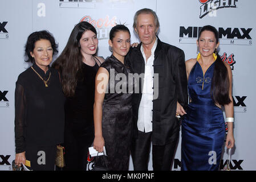
[[[28,38],[27,43],[25,45],[25,57],[26,62],[34,63],[35,59],[30,55],[30,52],[33,52],[35,48],[35,42],[38,40],[46,39],[49,40],[52,47],[52,56],[56,55],[58,53],[58,44],[55,42],[54,36],[48,32],[47,30],[32,32]]]

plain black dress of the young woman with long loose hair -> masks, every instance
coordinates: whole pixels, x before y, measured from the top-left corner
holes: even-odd
[[[95,61],[100,61],[95,57]],[[82,64],[75,95],[65,103],[65,170],[86,170],[88,147],[94,142],[95,77],[99,65]]]

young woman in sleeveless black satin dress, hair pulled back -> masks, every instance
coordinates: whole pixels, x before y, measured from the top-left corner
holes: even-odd
[[[101,152],[105,146],[107,167],[111,171],[129,168],[132,137],[132,92],[129,91],[133,90],[133,82],[128,79],[132,71],[124,64],[124,58],[129,51],[130,37],[124,25],[111,29],[108,43],[113,53],[101,64],[95,81],[94,148]],[[97,158],[96,164],[103,163],[101,159],[101,156]]]

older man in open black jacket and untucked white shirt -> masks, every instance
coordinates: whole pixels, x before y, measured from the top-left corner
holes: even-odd
[[[141,44],[131,48],[125,59],[143,78],[138,80],[139,93],[133,94],[132,101],[133,168],[148,170],[152,142],[153,170],[168,171],[180,133],[176,115],[185,114],[188,99],[185,56],[181,49],[157,38],[159,20],[153,10],[137,11],[133,28]]]

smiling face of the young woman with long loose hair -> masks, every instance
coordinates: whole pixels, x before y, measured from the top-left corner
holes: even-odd
[[[81,39],[79,40],[81,46],[81,53],[87,55],[94,55],[97,51],[97,35],[91,30],[87,30],[83,33]]]

